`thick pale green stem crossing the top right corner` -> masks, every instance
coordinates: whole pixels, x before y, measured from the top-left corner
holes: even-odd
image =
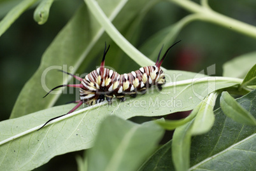
[[[197,13],[201,15],[201,20],[212,22],[214,24],[222,25],[227,29],[231,29],[232,31],[237,31],[252,38],[256,38],[256,27],[250,24],[246,24],[244,22],[240,22],[239,20],[235,20],[233,18],[227,17],[220,13],[217,13],[211,10],[207,5],[200,6],[197,3],[188,0],[169,0],[179,6],[191,11],[192,13]],[[206,4],[205,1],[203,4]]]

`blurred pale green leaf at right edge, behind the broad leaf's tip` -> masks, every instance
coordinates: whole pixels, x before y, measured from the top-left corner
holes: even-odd
[[[247,72],[256,64],[256,51],[236,57],[223,65],[223,76],[245,78]]]

